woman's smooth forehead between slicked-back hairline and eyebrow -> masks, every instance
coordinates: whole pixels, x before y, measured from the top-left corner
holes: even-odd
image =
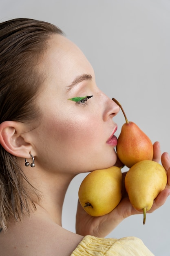
[[[46,73],[46,86],[57,85],[57,90],[67,89],[82,74],[89,74],[94,78],[93,68],[82,51],[62,35],[51,36],[40,65]]]

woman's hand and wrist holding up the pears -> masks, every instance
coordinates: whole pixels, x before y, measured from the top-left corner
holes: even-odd
[[[170,157],[168,153],[163,153],[161,156],[159,142],[155,142],[154,145],[154,156],[153,161],[159,162],[161,158],[161,162],[163,167],[167,171],[168,175],[168,182],[166,189],[161,191],[157,198],[154,200],[152,208],[147,213],[151,213],[161,207],[166,198],[170,194]],[[119,223],[124,220],[125,218],[134,215],[134,214],[143,214],[143,212],[136,211],[130,201],[128,199],[128,194],[126,193],[124,187],[124,178],[126,173],[123,173],[123,197],[121,202],[118,206],[111,211],[110,213],[100,216],[100,217],[93,217],[88,215],[80,203],[78,202],[77,205],[77,214],[76,214],[76,233],[82,236],[85,235],[92,235],[97,237],[105,237],[107,236]]]

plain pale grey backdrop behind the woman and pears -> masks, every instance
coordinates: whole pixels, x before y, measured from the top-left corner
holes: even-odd
[[[160,141],[162,152],[170,153],[170,0],[0,0],[0,21],[11,18],[60,27],[93,65],[99,88],[121,102],[128,119],[152,142]],[[121,112],[115,121],[118,136]],[[73,232],[85,176],[75,177],[64,202],[62,224]],[[156,256],[169,256],[169,216],[168,199],[147,214],[145,225],[142,215],[131,216],[108,237],[137,236]]]

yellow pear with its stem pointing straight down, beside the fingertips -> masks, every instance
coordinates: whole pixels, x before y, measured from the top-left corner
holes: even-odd
[[[125,188],[130,203],[137,211],[144,212],[152,207],[154,199],[165,189],[167,184],[166,170],[161,164],[143,160],[133,165],[126,174]]]

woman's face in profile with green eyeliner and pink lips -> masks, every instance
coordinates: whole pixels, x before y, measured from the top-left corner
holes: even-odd
[[[40,67],[47,79],[37,99],[42,118],[32,131],[36,166],[66,173],[113,166],[117,159],[113,117],[119,107],[97,88],[84,54],[64,36],[54,35]],[[79,102],[70,100],[92,95]]]

